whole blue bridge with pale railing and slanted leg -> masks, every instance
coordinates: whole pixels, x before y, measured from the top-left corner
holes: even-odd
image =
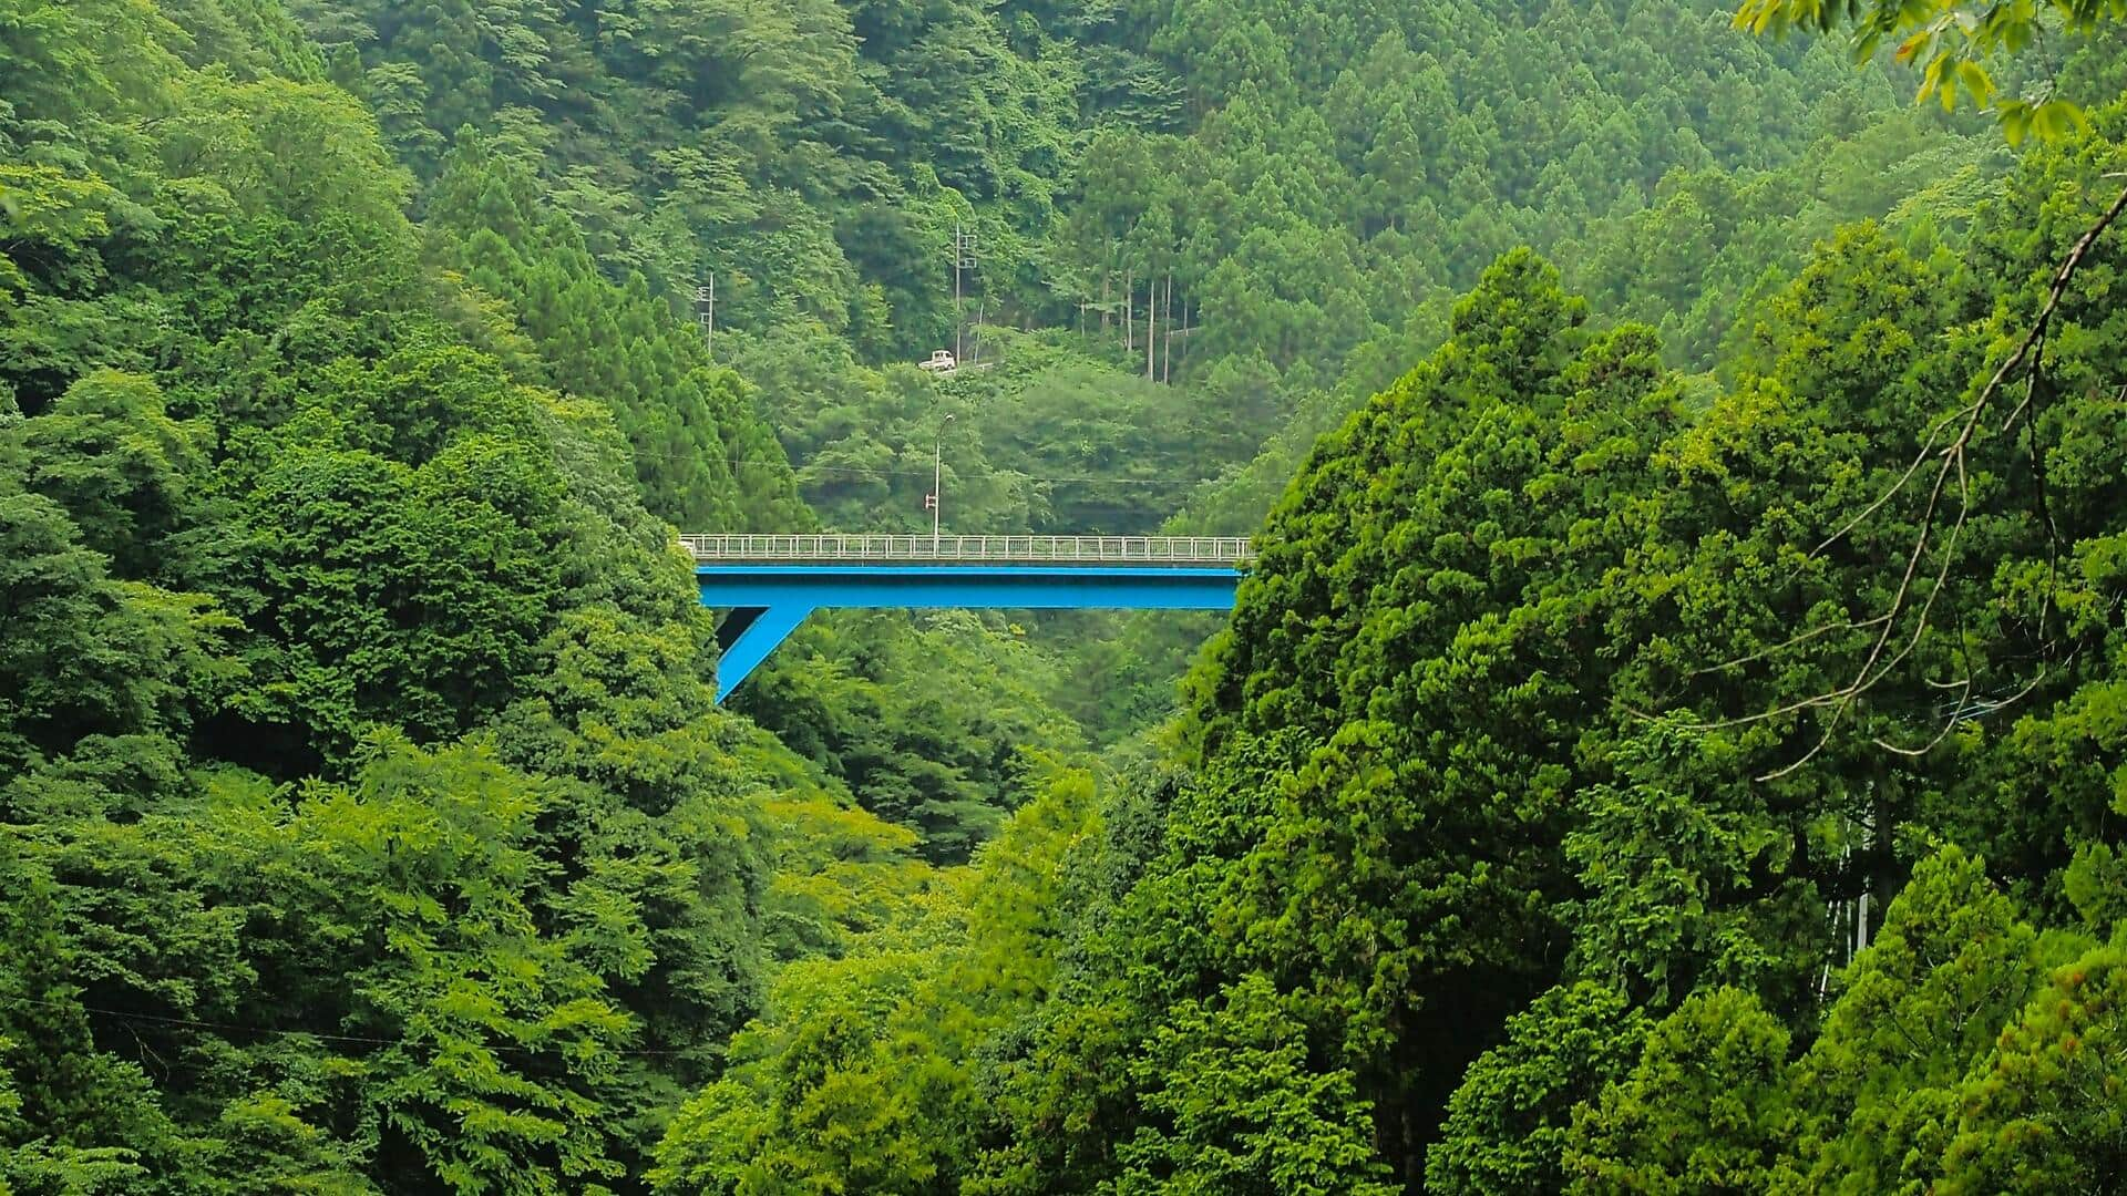
[[[1240,536],[681,536],[717,626],[717,700],[821,607],[1227,611]]]

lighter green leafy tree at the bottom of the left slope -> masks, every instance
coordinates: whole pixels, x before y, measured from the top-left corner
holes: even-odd
[[[379,1149],[411,1143],[455,1192],[600,1192],[621,1175],[602,1090],[634,1019],[562,938],[534,838],[549,800],[479,749],[376,743],[351,790],[315,790],[291,828],[362,926],[340,1004]]]

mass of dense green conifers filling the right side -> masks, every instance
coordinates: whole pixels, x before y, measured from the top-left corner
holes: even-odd
[[[2076,196],[2108,160],[2038,157],[2019,194]],[[2036,209],[1997,215],[1987,260],[2042,287],[2070,209],[2048,209],[2042,238],[2006,232]],[[1938,749],[1904,747],[1944,717],[1944,677],[2027,675],[2014,645],[2033,643],[2046,526],[2021,466],[1997,462],[1967,524],[1987,558],[1944,572],[1931,630],[1899,630],[1916,647],[1893,681],[1806,766],[1757,766],[1821,734],[1810,698],[1876,634],[1855,611],[1916,515],[1893,500],[1850,538],[1825,545],[1827,528],[1925,458],[1942,394],[1984,377],[1959,332],[1978,296],[2004,326],[2031,306],[1846,230],[1765,306],[1736,385],[1685,385],[1646,330],[1591,334],[1538,260],[1502,260],[1438,353],[1317,443],[1191,677],[1176,755],[1195,773],[1159,798],[1159,847],[1127,896],[1095,907],[1127,930],[1089,936],[1100,962],[1074,1009],[1108,1028],[1076,1049],[1161,1062],[1127,1090],[1087,1079],[1098,1098],[1032,1104],[1129,1147],[1108,1162],[1083,1145],[1095,1132],[1036,1124],[1015,1158],[1140,1185],[1253,1160],[1255,1100],[1295,1085],[1200,1083],[1225,1056],[1178,1045],[1223,1043],[1221,1000],[1249,983],[1306,1043],[1308,1081],[1351,1079],[1391,1168],[1412,1173],[1444,1107],[1425,1156],[1444,1190],[1919,1190],[1948,1175],[1953,1141],[2012,1122],[1965,1124],[1963,1094],[2010,1066],[1989,1051],[2036,981],[2027,919],[2074,926],[2072,900],[2108,932],[2121,892],[2101,813],[2118,702],[2097,681],[2118,655],[2095,615],[2116,611],[2121,509],[2087,489],[2118,415],[2082,364],[2121,332],[2110,309],[2078,298],[2074,332],[2055,328],[2076,398],[2042,449],[2067,519],[2053,526],[2078,528],[2055,575],[2076,643],[2099,653],[2091,685],[2042,687],[2016,730],[1974,707]],[[2031,904],[1955,851],[1906,885],[1929,832],[1999,843]],[[1842,981],[1857,921],[1876,943]],[[1044,1026],[1066,1051],[1081,1024]],[[1025,1058],[1055,1058],[1040,1051]],[[2084,1087],[2106,1092],[2110,1070],[2106,1056]],[[1321,1158],[1334,1122],[1306,1130]],[[2087,1132],[2110,1158],[2106,1124]],[[2065,1158],[2019,1134],[2023,1158]],[[2012,1185],[2016,1164],[1972,1166],[1976,1187]]]

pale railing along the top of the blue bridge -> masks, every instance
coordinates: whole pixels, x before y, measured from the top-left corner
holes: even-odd
[[[715,562],[1242,564],[1246,536],[681,536]]]

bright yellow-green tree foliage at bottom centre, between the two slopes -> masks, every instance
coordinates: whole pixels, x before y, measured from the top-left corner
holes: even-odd
[[[1000,1119],[978,1051],[1055,983],[1061,879],[1093,828],[1057,770],[968,875],[936,875],[847,956],[776,975],[768,1015],[657,1147],[659,1190],[781,1196],[953,1187]]]

